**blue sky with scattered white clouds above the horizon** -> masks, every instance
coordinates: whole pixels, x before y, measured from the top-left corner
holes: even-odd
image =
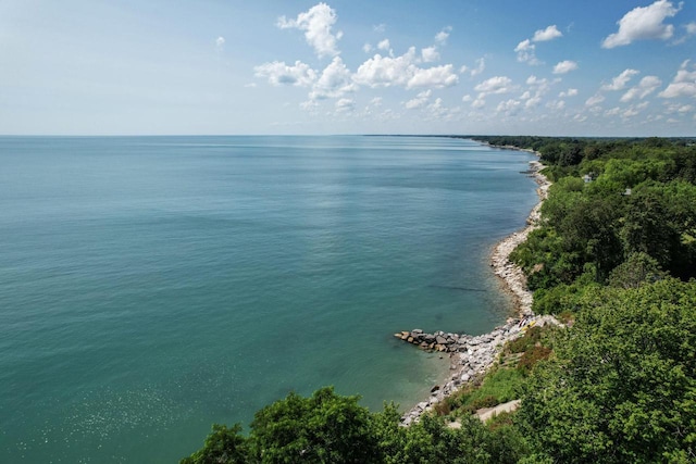
[[[0,134],[695,136],[696,0],[0,0]]]

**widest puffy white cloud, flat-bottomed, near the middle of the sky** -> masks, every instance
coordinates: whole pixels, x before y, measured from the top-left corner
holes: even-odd
[[[368,87],[402,86],[407,89],[419,87],[449,87],[459,81],[451,64],[421,68],[417,66],[415,48],[400,57],[375,54],[358,67],[353,81]]]

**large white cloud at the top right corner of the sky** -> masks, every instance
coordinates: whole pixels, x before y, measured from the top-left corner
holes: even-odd
[[[610,49],[641,39],[667,40],[674,35],[674,26],[664,24],[664,20],[673,17],[681,9],[682,3],[675,8],[668,0],[658,0],[648,7],[634,8],[618,21],[619,30],[609,35],[601,42],[601,47]]]

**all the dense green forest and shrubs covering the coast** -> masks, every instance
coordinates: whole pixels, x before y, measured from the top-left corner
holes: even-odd
[[[475,137],[537,151],[554,181],[511,259],[534,327],[409,427],[324,388],[213,426],[183,463],[696,462],[696,146],[686,139]],[[480,407],[521,399],[483,424]]]

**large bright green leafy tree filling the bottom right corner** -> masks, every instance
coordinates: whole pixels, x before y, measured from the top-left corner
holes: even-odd
[[[696,283],[602,289],[559,333],[519,414],[554,462],[689,462],[695,374]]]

